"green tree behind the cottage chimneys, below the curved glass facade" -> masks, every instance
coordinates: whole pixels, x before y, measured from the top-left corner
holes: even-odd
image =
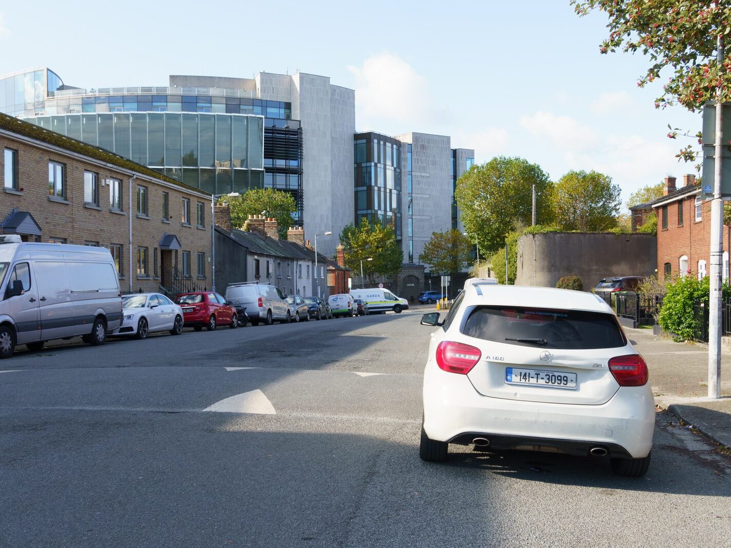
[[[224,196],[219,204],[227,202],[231,210],[232,227],[243,227],[249,215],[264,215],[276,218],[279,237],[287,238],[287,229],[295,224],[293,213],[297,202],[289,192],[274,189],[250,189],[237,197]]]

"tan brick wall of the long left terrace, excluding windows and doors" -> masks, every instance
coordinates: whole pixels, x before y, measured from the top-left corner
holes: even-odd
[[[166,258],[172,266],[181,268],[183,251],[190,252],[192,278],[199,286],[211,286],[211,205],[205,194],[197,194],[181,186],[173,186],[163,180],[147,176],[132,181],[132,203],[129,199],[129,178],[126,172],[106,167],[92,159],[80,159],[72,153],[53,151],[44,145],[32,145],[23,140],[0,135],[0,152],[4,148],[18,151],[18,191],[0,185],[0,222],[13,208],[29,211],[42,230],[41,241],[64,239],[66,243],[83,245],[98,243],[109,248],[122,246],[120,286],[132,291],[159,291],[161,274],[161,250],[159,242],[164,233],[174,234],[181,242],[177,253],[167,251]],[[66,192],[61,201],[49,198],[48,162],[58,161],[65,166]],[[85,170],[98,175],[99,206],[84,202]],[[4,178],[4,154],[0,153],[0,178]],[[122,181],[122,211],[110,210],[110,186],[108,178]],[[148,213],[137,214],[137,187],[144,186],[148,194]],[[167,218],[163,218],[163,193],[168,194]],[[189,224],[183,224],[181,214],[183,198],[190,200]],[[197,204],[203,204],[202,227],[197,227]],[[130,205],[132,207],[130,208]],[[129,243],[129,215],[132,212],[132,245]],[[24,237],[28,240],[29,238]],[[32,237],[31,237],[32,241]],[[137,250],[148,250],[148,275],[137,273]],[[197,271],[197,253],[205,254],[203,271]],[[132,258],[132,279],[129,278],[129,260]]]

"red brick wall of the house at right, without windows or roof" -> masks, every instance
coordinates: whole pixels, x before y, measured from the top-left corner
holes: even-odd
[[[683,208],[683,224],[678,224],[678,208]],[[664,265],[670,263],[670,275],[680,272],[681,256],[688,257],[691,275],[698,275],[698,261],[706,262],[706,274],[711,273],[711,202],[701,205],[701,220],[695,220],[695,194],[667,204],[667,229],[663,228],[663,207],[657,213],[657,270],[664,277]],[[724,251],[729,251],[729,229],[724,227]],[[724,274],[726,277],[728,273]]]

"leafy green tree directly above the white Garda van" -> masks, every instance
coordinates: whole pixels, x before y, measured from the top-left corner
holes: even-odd
[[[396,242],[393,227],[370,224],[366,217],[357,227],[352,223],[347,225],[340,233],[340,242],[345,248],[345,265],[354,273],[360,273],[360,260],[363,259],[363,274],[371,283],[379,276],[396,275],[404,262],[404,251]],[[368,258],[373,260],[366,262]]]

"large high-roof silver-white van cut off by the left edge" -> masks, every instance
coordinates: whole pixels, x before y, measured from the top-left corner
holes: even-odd
[[[104,344],[122,323],[114,260],[104,248],[0,236],[0,298],[0,358],[17,344],[40,350],[78,335]]]

